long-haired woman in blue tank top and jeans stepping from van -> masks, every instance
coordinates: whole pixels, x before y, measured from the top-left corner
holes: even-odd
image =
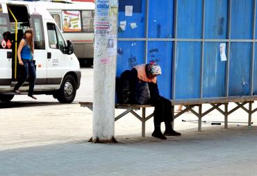
[[[35,64],[33,62],[33,53],[34,53],[33,29],[28,28],[25,30],[25,33],[24,33],[24,36],[22,37],[21,42],[19,42],[19,47],[17,51],[19,64],[22,67],[24,67],[24,75],[17,82],[17,85],[15,85],[15,89],[13,91],[17,94],[20,94],[20,91],[18,89],[28,79],[28,75],[29,75],[30,80],[29,80],[28,96],[30,96],[33,99],[37,99],[33,95],[35,78],[36,78]]]

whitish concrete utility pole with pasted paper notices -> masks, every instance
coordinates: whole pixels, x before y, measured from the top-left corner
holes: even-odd
[[[114,138],[117,4],[117,0],[95,0],[92,143],[117,142]]]

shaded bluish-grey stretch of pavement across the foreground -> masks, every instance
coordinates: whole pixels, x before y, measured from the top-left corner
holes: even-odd
[[[183,130],[161,141],[118,136],[0,152],[1,175],[256,175],[257,127]]]

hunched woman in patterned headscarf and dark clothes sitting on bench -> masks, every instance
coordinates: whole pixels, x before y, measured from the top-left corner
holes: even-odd
[[[140,64],[131,69],[131,91],[135,97],[138,94],[138,84],[147,83],[149,88],[149,100],[144,104],[154,105],[154,132],[151,134],[152,137],[159,139],[167,139],[165,136],[181,136],[181,133],[176,132],[172,128],[172,103],[167,98],[160,96],[157,76],[161,74],[161,69],[156,62],[150,64]],[[137,100],[133,100],[135,104],[138,104]],[[142,103],[140,103],[142,104]],[[161,132],[160,123],[164,121],[165,132]]]

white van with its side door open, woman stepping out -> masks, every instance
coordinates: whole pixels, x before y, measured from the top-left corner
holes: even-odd
[[[13,88],[22,74],[17,47],[26,28],[34,30],[34,94],[51,94],[60,103],[71,103],[81,81],[73,44],[65,40],[46,9],[24,1],[0,1],[0,101],[17,95]],[[22,94],[27,94],[28,82],[29,78],[20,87]]]

